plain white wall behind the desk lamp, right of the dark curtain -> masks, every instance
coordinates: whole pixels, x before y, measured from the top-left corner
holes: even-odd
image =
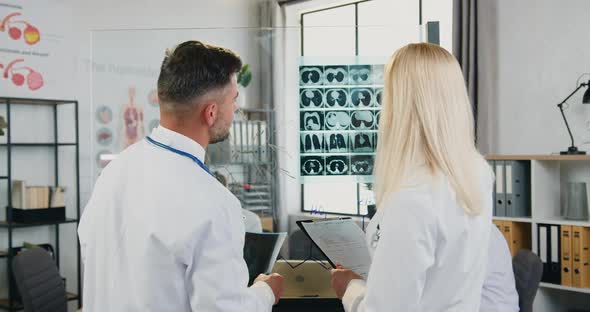
[[[490,105],[489,151],[502,154],[550,154],[570,145],[556,105],[590,72],[590,41],[586,0],[498,0],[497,43],[490,50],[496,68],[496,99]],[[495,50],[495,51],[494,51]],[[496,71],[496,73],[494,73]],[[586,77],[586,81],[589,78]],[[570,99],[566,111],[576,144],[590,146],[590,106],[582,105],[583,91]]]

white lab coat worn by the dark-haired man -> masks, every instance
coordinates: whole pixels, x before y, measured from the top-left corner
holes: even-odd
[[[204,159],[176,132],[151,137]],[[78,228],[84,312],[271,311],[266,283],[247,288],[239,201],[191,159],[146,140],[102,172]]]

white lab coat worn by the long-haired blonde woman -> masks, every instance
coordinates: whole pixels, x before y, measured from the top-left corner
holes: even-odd
[[[372,264],[342,303],[352,311],[478,311],[492,218],[492,174],[482,162],[483,211],[465,214],[444,177],[425,166],[381,207],[367,227]],[[377,231],[377,225],[379,230]]]

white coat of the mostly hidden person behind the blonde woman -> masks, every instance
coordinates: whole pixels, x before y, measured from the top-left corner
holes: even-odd
[[[494,225],[490,232],[488,248],[488,267],[479,312],[518,312],[520,308],[512,269],[512,255],[506,239]]]

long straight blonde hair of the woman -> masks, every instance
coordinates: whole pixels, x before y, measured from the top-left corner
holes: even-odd
[[[473,112],[457,60],[428,43],[397,50],[385,66],[375,160],[378,207],[425,162],[447,177],[468,215],[482,209],[483,157],[475,147]]]

